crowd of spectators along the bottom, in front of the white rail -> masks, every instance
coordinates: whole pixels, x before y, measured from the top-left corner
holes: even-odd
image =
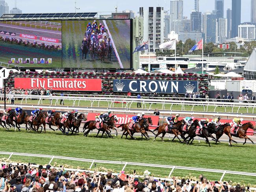
[[[249,192],[251,190],[247,188]],[[227,182],[208,181],[200,175],[198,181],[186,179],[172,181],[145,179],[126,175],[118,176],[97,172],[67,171],[61,168],[46,168],[32,165],[2,165],[0,168],[0,192],[245,192],[244,186],[231,186]]]

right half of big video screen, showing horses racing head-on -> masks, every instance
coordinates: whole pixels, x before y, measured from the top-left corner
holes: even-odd
[[[130,19],[63,21],[63,67],[130,68],[130,27]]]

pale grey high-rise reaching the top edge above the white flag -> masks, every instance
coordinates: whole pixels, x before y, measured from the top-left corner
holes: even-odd
[[[173,31],[173,21],[183,18],[183,0],[171,0],[170,31]]]

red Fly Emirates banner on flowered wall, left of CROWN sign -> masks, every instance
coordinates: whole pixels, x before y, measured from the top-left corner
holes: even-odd
[[[63,91],[101,91],[101,79],[14,78],[14,87]]]

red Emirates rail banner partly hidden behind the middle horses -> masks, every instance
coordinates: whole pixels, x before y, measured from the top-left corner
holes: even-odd
[[[87,116],[87,121],[89,120],[95,120],[95,116],[97,113],[88,113]],[[132,122],[132,117],[134,116],[134,114],[110,114],[110,116],[112,115],[116,115],[118,122],[116,123],[117,125],[120,124],[126,124],[128,122]],[[156,129],[157,125],[158,125],[158,120],[159,120],[159,116],[156,115],[145,115],[145,117],[151,117],[152,119],[152,124],[153,126],[150,126],[150,129]]]

